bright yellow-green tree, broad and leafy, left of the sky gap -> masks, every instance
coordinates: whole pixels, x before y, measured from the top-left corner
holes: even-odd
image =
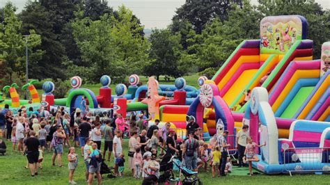
[[[121,81],[129,74],[141,73],[148,61],[148,40],[139,34],[143,26],[133,19],[132,11],[125,6],[117,13],[117,19],[105,14],[93,21],[80,11],[72,22],[81,58],[90,64],[86,66],[90,71],[86,78],[91,81],[98,81],[102,74],[110,74],[114,81]],[[86,71],[86,67],[79,70]]]

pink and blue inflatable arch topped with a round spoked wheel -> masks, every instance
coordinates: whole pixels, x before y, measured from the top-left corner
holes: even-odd
[[[234,118],[226,102],[220,97],[219,88],[215,84],[201,86],[201,94],[189,107],[187,116],[193,116],[199,127],[203,128],[204,108],[214,108],[217,122],[222,121],[224,129],[234,134]],[[213,131],[214,133],[214,131]]]

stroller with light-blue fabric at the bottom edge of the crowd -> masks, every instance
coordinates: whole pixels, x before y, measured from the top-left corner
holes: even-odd
[[[201,179],[198,178],[197,174],[198,172],[194,172],[186,168],[181,164],[181,161],[178,158],[175,158],[175,156],[172,156],[171,161],[175,166],[177,166],[180,169],[180,176],[181,174],[184,176],[184,179],[181,181],[183,185],[202,185]],[[177,184],[179,184],[178,182]]]

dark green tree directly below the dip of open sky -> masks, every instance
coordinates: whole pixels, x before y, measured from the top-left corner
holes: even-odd
[[[152,30],[149,39],[151,42],[149,56],[152,62],[145,67],[144,74],[149,77],[155,75],[157,80],[159,80],[159,75],[180,77],[182,75],[178,67],[180,38],[171,35],[168,29],[155,29]]]

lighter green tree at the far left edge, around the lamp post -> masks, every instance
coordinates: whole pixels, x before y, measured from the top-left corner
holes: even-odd
[[[20,33],[22,22],[15,15],[16,8],[12,3],[7,3],[3,8],[4,20],[0,24],[0,60],[3,68],[9,75],[10,83],[14,72],[24,74],[25,72],[25,46],[29,48],[31,63],[37,63],[36,58],[42,56],[42,51],[36,49],[41,43],[40,35],[34,30],[29,30],[29,36],[23,38]]]

